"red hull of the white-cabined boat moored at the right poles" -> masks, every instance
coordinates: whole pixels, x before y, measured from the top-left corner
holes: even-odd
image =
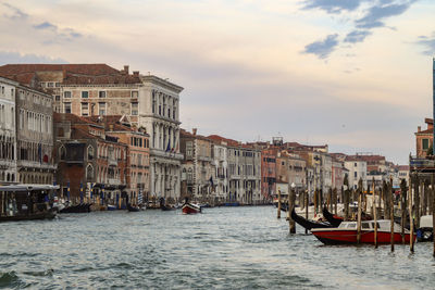
[[[357,230],[312,230],[312,234],[324,244],[355,244],[358,243]],[[414,236],[415,239],[415,236]],[[377,232],[377,243],[390,243],[391,234],[387,231]],[[394,242],[401,243],[401,234],[394,234]],[[410,234],[405,234],[405,242],[410,242]],[[374,231],[373,230],[361,230],[360,243],[373,243],[374,244]]]

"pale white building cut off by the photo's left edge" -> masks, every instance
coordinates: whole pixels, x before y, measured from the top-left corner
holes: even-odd
[[[16,181],[15,91],[18,83],[0,77],[0,184]]]

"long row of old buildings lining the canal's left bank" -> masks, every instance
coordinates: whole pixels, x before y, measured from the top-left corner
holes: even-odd
[[[181,128],[167,79],[105,64],[0,66],[1,182],[58,184],[63,196],[117,203],[183,197],[269,202],[281,191],[364,187],[407,167],[384,156],[330,153],[327,146],[243,143]],[[71,197],[70,197],[71,196]]]

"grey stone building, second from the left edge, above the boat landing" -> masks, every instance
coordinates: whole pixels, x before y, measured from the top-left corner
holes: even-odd
[[[16,166],[21,184],[54,181],[52,101],[48,93],[16,87]]]

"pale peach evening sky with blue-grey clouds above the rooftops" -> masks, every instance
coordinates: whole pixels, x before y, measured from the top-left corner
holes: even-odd
[[[433,0],[0,0],[0,65],[107,63],[184,88],[181,122],[408,164],[432,117]]]

